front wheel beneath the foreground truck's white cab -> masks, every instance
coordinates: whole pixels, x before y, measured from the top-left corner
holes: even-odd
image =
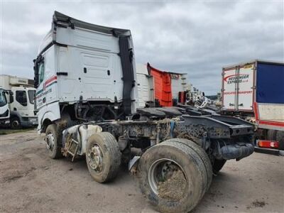
[[[45,130],[45,143],[50,158],[61,157],[61,143],[56,124],[50,124]]]

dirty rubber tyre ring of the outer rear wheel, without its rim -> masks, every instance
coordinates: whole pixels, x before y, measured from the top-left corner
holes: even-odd
[[[162,151],[163,150],[163,151]],[[181,156],[181,158],[180,158]],[[187,188],[184,196],[177,201],[170,201],[155,195],[148,183],[148,169],[160,158],[177,160],[182,166],[187,178]],[[159,212],[189,212],[200,202],[207,186],[205,167],[201,158],[183,143],[165,141],[149,148],[139,160],[138,180],[141,192],[148,202]],[[190,185],[188,185],[190,184]],[[191,192],[191,193],[190,193]]]

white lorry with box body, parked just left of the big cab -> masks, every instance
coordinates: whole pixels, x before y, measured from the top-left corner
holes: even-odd
[[[35,114],[35,88],[33,80],[10,75],[0,75],[0,86],[6,91],[6,99],[9,102],[10,126],[12,129],[21,126],[36,126],[38,118]]]

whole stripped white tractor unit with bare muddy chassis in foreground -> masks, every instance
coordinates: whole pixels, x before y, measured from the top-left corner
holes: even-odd
[[[50,158],[85,158],[96,182],[124,163],[155,209],[189,212],[226,160],[253,153],[253,124],[196,107],[136,107],[134,60],[129,30],[55,11],[34,66],[38,131]]]

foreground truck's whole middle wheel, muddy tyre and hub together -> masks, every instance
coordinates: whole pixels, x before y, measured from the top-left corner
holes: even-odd
[[[114,179],[121,164],[121,152],[116,138],[108,132],[90,136],[87,141],[86,161],[89,173],[97,182]]]

